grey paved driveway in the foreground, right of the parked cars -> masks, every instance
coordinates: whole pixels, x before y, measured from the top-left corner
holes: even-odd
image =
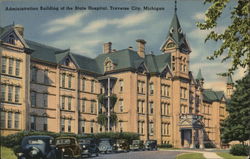
[[[175,159],[176,155],[183,153],[178,151],[136,151],[112,154],[100,154],[93,159]]]

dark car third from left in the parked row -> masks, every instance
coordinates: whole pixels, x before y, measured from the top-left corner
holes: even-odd
[[[80,139],[78,143],[81,148],[82,156],[87,155],[91,157],[93,154],[99,155],[99,149],[97,142],[92,138]]]

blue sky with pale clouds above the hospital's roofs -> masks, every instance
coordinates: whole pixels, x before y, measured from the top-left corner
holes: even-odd
[[[10,7],[32,10],[7,10]],[[145,10],[144,7],[158,10]],[[158,55],[162,53],[160,47],[166,40],[174,7],[174,0],[2,0],[0,26],[21,24],[25,39],[60,49],[69,48],[74,53],[92,58],[102,53],[103,43],[106,42],[112,42],[112,48],[116,50],[129,46],[137,50],[137,39],[147,42],[147,53]],[[204,5],[202,0],[178,0],[177,15],[192,50],[190,70],[193,75],[196,77],[201,69],[205,88],[225,90],[226,78],[217,74],[225,72],[230,61],[207,60],[206,57],[219,48],[220,43],[205,43],[209,31],[196,27],[196,22],[204,21],[208,7],[209,4]],[[230,23],[229,12],[232,8],[230,3],[215,31],[222,32]],[[238,70],[233,79],[243,76],[244,70]]]

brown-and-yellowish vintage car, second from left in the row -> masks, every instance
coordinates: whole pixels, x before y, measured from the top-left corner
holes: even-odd
[[[56,148],[62,152],[65,158],[81,158],[81,148],[75,137],[58,137],[55,140]]]

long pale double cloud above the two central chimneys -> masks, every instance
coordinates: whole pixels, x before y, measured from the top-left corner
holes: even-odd
[[[148,12],[142,12],[138,14],[129,14],[123,18],[100,19],[92,21],[89,25],[83,28],[81,32],[83,33],[97,32],[108,25],[115,25],[118,28],[132,27],[147,21],[151,17],[152,14]]]

